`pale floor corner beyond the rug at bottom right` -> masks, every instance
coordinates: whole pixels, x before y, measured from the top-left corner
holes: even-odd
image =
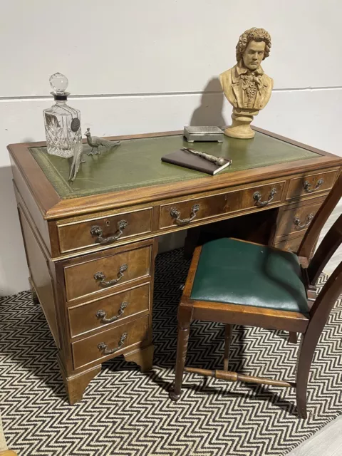
[[[342,415],[316,432],[287,456],[341,456]]]

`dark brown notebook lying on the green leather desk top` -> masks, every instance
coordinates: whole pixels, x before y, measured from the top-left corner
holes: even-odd
[[[190,168],[190,170],[196,170],[206,172],[210,175],[215,175],[217,172],[224,170],[232,163],[232,160],[225,160],[224,165],[217,166],[213,162],[209,162],[203,157],[194,155],[187,150],[175,150],[170,154],[162,156],[162,162],[172,163],[172,165],[183,166]]]

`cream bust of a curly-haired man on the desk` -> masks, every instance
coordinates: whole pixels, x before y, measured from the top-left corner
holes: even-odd
[[[261,61],[269,56],[271,36],[264,28],[249,28],[237,43],[237,64],[219,75],[224,95],[233,105],[232,125],[224,134],[253,138],[251,122],[271,97],[273,79],[264,73]]]

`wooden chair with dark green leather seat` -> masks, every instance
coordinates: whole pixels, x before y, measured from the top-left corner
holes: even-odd
[[[316,298],[315,284],[342,242],[342,214],[319,245],[309,264],[323,225],[342,196],[342,175],[307,230],[298,254],[238,239],[217,239],[195,249],[178,309],[177,361],[172,400],[180,399],[183,372],[224,380],[242,380],[296,388],[299,417],[306,418],[306,388],[311,361],[342,291],[342,261]],[[309,266],[308,266],[309,264]],[[316,299],[315,299],[316,298]],[[192,320],[225,323],[222,371],[185,367]],[[232,324],[303,333],[296,383],[251,377],[228,371]]]

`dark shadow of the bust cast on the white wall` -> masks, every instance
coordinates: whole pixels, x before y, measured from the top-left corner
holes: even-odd
[[[217,127],[227,125],[222,114],[223,102],[224,94],[219,78],[212,78],[204,88],[201,104],[192,114],[190,125],[215,125]]]

